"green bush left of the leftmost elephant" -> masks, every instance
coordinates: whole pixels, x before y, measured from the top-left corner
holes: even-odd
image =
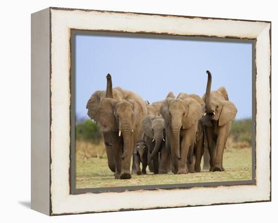
[[[75,125],[75,139],[98,144],[102,133],[96,122],[87,119]]]

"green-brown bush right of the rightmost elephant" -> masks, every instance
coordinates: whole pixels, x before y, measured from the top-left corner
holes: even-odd
[[[231,125],[231,137],[234,142],[252,145],[252,119],[234,120]]]

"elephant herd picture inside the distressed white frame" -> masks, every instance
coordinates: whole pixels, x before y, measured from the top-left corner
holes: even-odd
[[[254,184],[253,40],[72,30],[71,64],[76,192]]]

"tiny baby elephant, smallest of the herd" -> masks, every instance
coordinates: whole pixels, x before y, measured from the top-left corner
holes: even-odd
[[[148,146],[145,140],[138,140],[136,142],[133,156],[134,156],[136,174],[137,175],[147,174],[146,167],[148,165]],[[140,163],[142,163],[142,172],[140,169]]]

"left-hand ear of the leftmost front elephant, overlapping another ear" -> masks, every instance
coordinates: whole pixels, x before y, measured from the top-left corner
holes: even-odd
[[[118,124],[114,116],[114,106],[117,100],[113,98],[103,98],[96,112],[98,125],[109,131],[117,131]]]

